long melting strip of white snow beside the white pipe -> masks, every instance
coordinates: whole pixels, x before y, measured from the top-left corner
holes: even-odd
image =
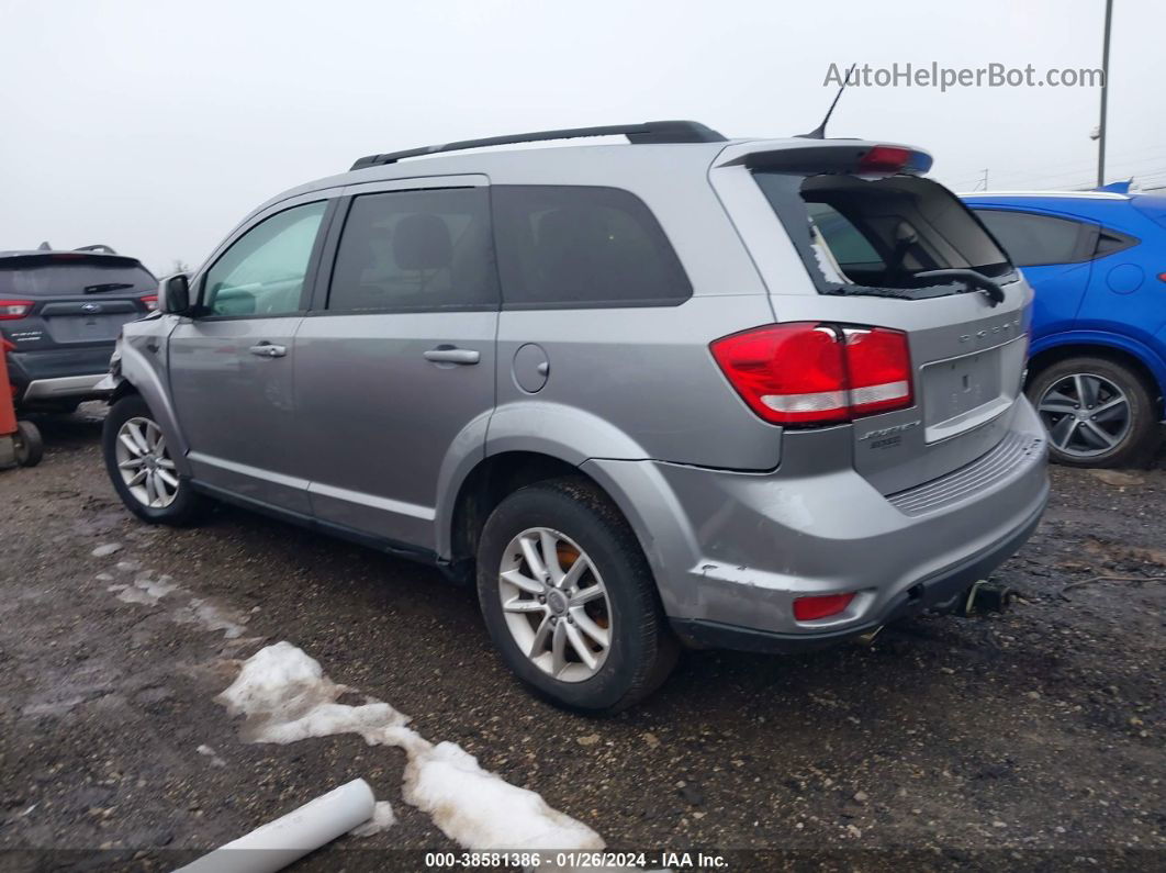
[[[534,791],[482,769],[454,742],[434,745],[407,727],[408,717],[374,698],[336,703],[350,689],[324,675],[319,662],[290,642],[278,642],[244,662],[216,699],[244,716],[250,742],[295,742],[357,733],[373,746],[405,751],[403,797],[428,812],[445,836],[471,850],[600,850],[603,838],[547,805]]]

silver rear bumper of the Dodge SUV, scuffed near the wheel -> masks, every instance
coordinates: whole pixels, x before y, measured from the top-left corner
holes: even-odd
[[[787,432],[770,473],[656,462],[583,469],[627,514],[682,636],[789,650],[943,603],[1020,548],[1048,500],[1046,442],[1026,400],[1007,429],[999,451],[890,498],[850,466],[849,427]],[[799,597],[850,592],[837,615],[794,618]]]

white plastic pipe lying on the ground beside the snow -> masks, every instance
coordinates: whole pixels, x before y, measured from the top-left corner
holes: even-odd
[[[177,873],[274,873],[367,822],[375,805],[368,783],[354,779]]]

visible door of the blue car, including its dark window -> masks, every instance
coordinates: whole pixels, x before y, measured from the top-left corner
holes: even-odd
[[[972,210],[1032,286],[1033,339],[1068,330],[1089,288],[1098,226],[1021,210]]]

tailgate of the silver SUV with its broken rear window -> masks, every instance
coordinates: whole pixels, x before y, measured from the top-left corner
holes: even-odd
[[[778,319],[888,328],[911,351],[909,403],[852,421],[855,467],[892,494],[985,455],[1020,395],[1027,283],[958,198],[915,175],[930,163],[922,153],[796,152],[796,166],[777,153],[750,167],[812,280],[807,293],[773,296]],[[872,154],[891,160],[863,166]]]

